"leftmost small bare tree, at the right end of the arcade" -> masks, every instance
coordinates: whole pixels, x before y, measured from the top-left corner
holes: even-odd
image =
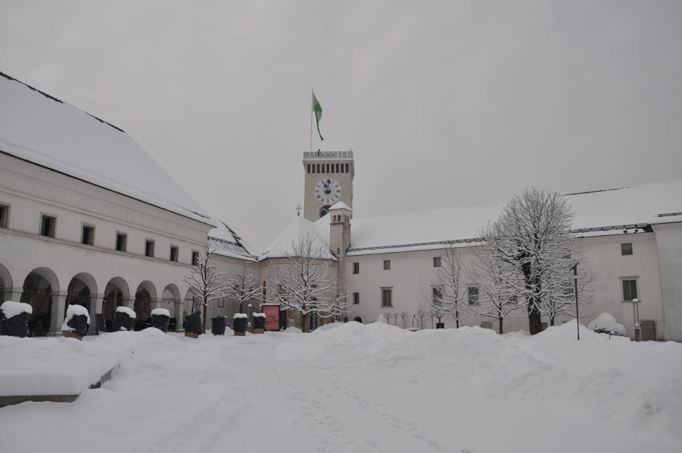
[[[227,274],[219,271],[215,264],[210,262],[214,251],[214,247],[209,243],[204,253],[199,253],[190,275],[184,278],[185,286],[193,295],[192,311],[197,310],[199,306],[202,307],[202,332],[206,332],[208,302],[227,295]]]

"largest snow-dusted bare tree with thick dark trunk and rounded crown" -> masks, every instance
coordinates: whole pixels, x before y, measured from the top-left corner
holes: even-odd
[[[528,312],[531,334],[541,332],[548,306],[565,307],[573,298],[571,268],[584,262],[584,246],[570,233],[574,213],[557,192],[531,188],[509,200],[500,217],[482,233],[485,247],[502,260],[500,275]]]

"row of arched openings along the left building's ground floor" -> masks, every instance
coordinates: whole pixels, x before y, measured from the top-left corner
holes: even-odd
[[[64,289],[50,268],[33,269],[21,286],[16,283],[19,282],[14,282],[8,269],[0,263],[0,296],[3,301],[16,300],[31,305],[33,313],[28,327],[30,334],[36,337],[58,332],[67,307],[72,304],[82,305],[90,312],[91,324],[97,313],[104,315],[105,322],[110,324],[117,307],[131,307],[136,313],[136,324],[144,328],[156,306],[170,309],[171,317],[182,317],[184,305],[191,305],[192,299],[190,293],[181,299],[175,283],[169,283],[158,294],[156,285],[149,280],[142,281],[131,292],[126,280],[118,276],[109,279],[104,288],[98,288],[95,278],[87,272],[74,275]]]

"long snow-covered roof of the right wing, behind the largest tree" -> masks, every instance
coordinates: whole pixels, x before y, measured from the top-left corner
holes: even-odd
[[[565,195],[575,211],[573,229],[583,236],[598,231],[637,231],[635,227],[682,221],[682,180],[654,182]],[[354,218],[349,254],[439,249],[471,244],[506,202]],[[676,214],[677,215],[673,215]],[[329,219],[315,222],[329,229]],[[593,233],[592,233],[593,232]]]

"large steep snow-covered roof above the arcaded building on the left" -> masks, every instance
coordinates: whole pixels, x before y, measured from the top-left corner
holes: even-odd
[[[0,72],[0,151],[210,224],[127,133]]]

